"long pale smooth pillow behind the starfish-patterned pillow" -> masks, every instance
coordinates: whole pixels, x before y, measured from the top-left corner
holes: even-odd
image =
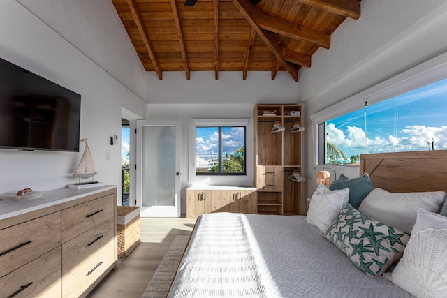
[[[374,188],[362,201],[358,211],[381,223],[411,233],[418,209],[437,212],[441,209],[446,195],[444,191],[390,193],[381,188]]]

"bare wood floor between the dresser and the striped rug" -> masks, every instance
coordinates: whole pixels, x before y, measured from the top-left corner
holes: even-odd
[[[111,271],[87,296],[140,298],[177,235],[189,235],[196,220],[186,218],[140,218],[141,243],[127,258],[118,259]]]

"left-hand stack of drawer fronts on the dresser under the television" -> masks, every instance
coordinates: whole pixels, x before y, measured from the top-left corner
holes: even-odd
[[[61,297],[61,214],[0,230],[0,297]]]

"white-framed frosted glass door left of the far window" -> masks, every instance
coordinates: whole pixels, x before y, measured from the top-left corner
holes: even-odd
[[[181,127],[137,121],[137,206],[142,217],[180,216]]]

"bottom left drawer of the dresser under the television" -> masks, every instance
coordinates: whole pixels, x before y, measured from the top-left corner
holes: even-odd
[[[61,297],[61,248],[0,278],[0,297]]]

